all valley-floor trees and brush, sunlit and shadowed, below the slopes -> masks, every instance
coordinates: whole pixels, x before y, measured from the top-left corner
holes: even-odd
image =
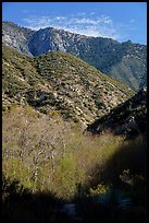
[[[146,220],[145,138],[92,137],[28,106],[4,113],[2,136],[4,219],[66,220],[74,202],[82,220]]]

